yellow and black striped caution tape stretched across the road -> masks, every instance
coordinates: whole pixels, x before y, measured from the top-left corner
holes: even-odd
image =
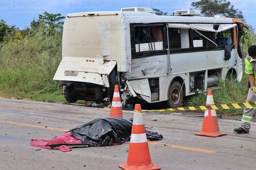
[[[183,110],[211,110],[211,109],[244,109],[244,108],[256,108],[256,102],[245,102],[245,103],[232,103],[232,104],[216,104],[208,106],[190,106],[190,107],[177,107],[170,109],[160,110],[142,110],[147,112],[159,112],[159,111],[183,111]]]

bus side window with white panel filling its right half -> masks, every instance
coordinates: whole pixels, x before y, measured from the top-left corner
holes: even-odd
[[[170,49],[191,47],[188,29],[168,28],[168,38]]]

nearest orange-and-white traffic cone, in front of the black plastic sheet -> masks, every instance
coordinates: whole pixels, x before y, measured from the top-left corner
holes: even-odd
[[[151,162],[140,104],[135,104],[127,163],[119,167],[124,170],[161,169]]]

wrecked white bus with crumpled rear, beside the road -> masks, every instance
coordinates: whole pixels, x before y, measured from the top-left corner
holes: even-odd
[[[131,98],[179,107],[184,96],[242,78],[243,21],[196,10],[158,16],[150,8],[68,14],[59,80],[69,103]]]

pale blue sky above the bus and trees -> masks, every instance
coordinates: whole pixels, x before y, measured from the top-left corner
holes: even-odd
[[[66,16],[76,12],[120,11],[125,7],[148,7],[160,9],[171,15],[175,10],[190,9],[193,1],[197,0],[0,0],[0,20],[4,19],[8,25],[16,25],[22,30],[44,11]],[[246,22],[256,29],[256,0],[229,1],[243,12]]]

